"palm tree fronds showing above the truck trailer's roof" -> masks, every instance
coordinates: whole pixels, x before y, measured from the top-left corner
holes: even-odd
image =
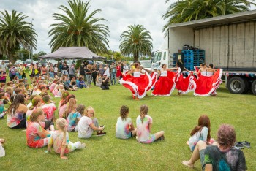
[[[247,0],[176,1],[173,4],[170,4],[167,8],[167,12],[162,16],[162,18],[168,19],[163,30],[165,31],[171,23],[182,23],[190,20],[199,20],[218,15],[228,15],[236,12],[248,11],[250,4],[255,5],[255,3]]]

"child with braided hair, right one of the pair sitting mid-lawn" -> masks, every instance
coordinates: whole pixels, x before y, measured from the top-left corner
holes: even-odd
[[[160,131],[155,134],[151,134],[151,126],[153,120],[151,116],[148,115],[148,106],[143,104],[140,106],[140,115],[136,119],[137,125],[137,140],[141,143],[151,143],[155,140],[163,140],[165,132]]]

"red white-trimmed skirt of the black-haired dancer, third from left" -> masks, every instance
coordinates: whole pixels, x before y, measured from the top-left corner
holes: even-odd
[[[196,84],[193,75],[183,77],[182,74],[178,75],[176,82],[176,89],[182,94],[187,94],[189,91],[195,91]]]

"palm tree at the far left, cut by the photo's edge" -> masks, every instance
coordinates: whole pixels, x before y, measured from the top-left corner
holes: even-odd
[[[27,23],[25,19],[28,16],[22,15],[12,10],[9,14],[6,10],[0,12],[0,54],[9,56],[12,64],[15,62],[15,53],[23,47],[31,50],[37,47],[37,36],[31,23]]]

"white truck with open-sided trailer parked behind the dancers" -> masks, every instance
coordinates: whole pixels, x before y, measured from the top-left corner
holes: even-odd
[[[206,64],[223,69],[230,93],[256,95],[256,10],[172,24],[166,39],[167,46],[154,53],[152,69],[173,67],[173,53],[187,44],[205,50]]]

